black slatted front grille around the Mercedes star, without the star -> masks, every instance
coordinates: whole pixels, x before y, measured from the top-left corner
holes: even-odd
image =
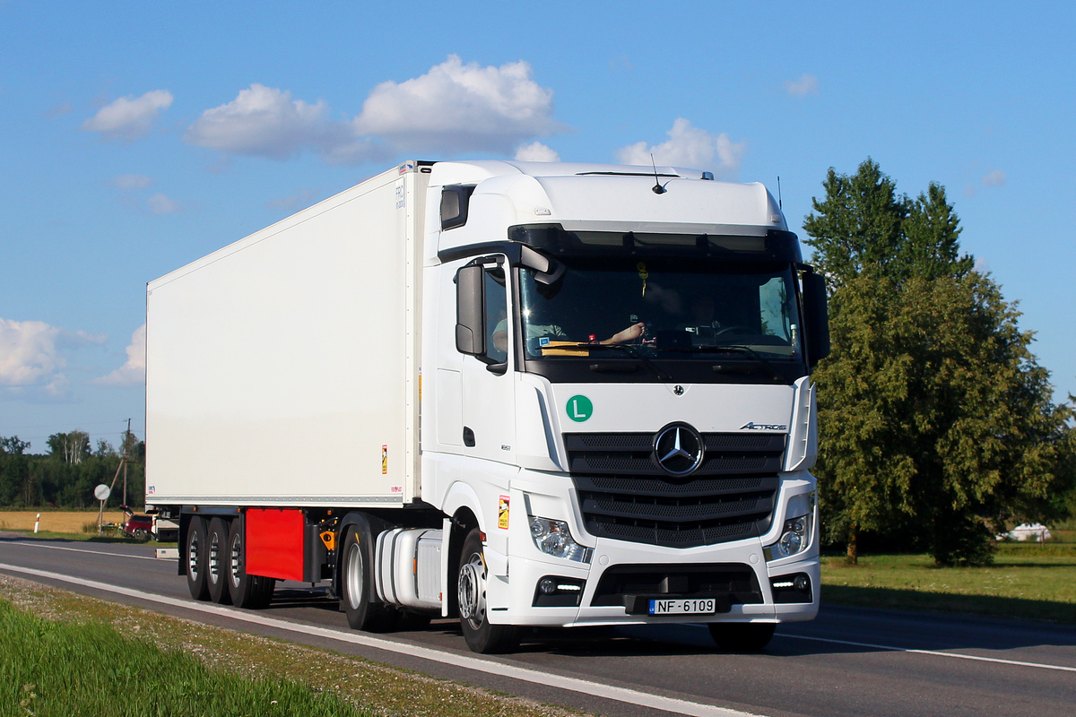
[[[652,433],[566,433],[564,440],[593,535],[682,548],[769,528],[783,433],[704,433],[705,457],[686,478],[653,459]]]

